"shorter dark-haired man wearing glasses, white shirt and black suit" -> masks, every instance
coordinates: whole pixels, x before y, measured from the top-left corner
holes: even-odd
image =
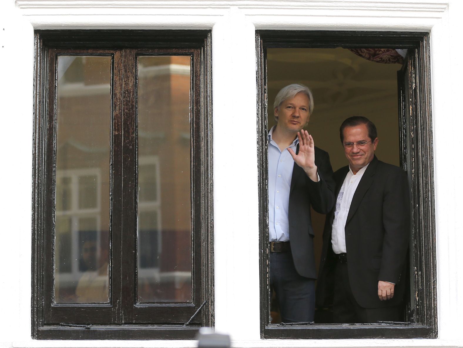
[[[400,321],[410,236],[407,174],[375,156],[368,118],[340,127],[349,165],[334,173],[336,204],[326,217],[317,305],[332,294],[335,323]]]

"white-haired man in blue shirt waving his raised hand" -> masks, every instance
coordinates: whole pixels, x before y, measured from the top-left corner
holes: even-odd
[[[328,153],[303,130],[312,112],[309,88],[282,88],[274,103],[277,124],[268,137],[269,278],[284,323],[313,321],[317,274],[310,207],[326,214],[335,202]]]

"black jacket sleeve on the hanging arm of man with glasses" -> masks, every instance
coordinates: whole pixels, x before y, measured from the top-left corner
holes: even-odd
[[[410,239],[410,189],[407,174],[401,169],[388,178],[382,216],[384,240],[378,280],[397,284],[404,269]]]

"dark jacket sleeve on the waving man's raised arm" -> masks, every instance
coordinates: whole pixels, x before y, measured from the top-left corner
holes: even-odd
[[[307,190],[313,209],[320,214],[327,214],[335,203],[335,183],[328,153],[323,150],[316,152],[315,164],[320,180],[318,182],[312,181],[306,175]]]

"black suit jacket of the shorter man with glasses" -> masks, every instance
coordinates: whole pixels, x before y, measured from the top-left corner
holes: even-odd
[[[333,174],[336,197],[349,167]],[[333,209],[326,217],[320,262],[317,305],[329,304],[333,284],[331,245]],[[410,190],[407,174],[376,156],[363,173],[352,198],[345,225],[347,267],[352,293],[363,308],[398,305],[405,289],[410,238]],[[394,298],[380,301],[378,280],[395,283]],[[328,300],[328,302],[327,302]]]

